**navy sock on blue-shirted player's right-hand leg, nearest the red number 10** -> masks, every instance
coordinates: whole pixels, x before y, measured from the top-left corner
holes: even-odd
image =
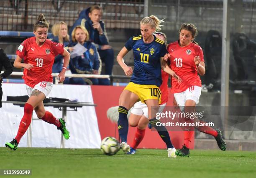
[[[165,142],[167,148],[174,148],[171,142],[170,135],[168,131],[166,130],[166,127],[160,125],[157,126],[156,122],[159,122],[159,120],[156,120],[156,118],[149,120],[151,125],[157,130],[159,136],[161,139]]]

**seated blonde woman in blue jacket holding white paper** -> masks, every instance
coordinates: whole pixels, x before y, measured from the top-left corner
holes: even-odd
[[[81,25],[78,25],[72,31],[73,46],[77,43],[84,46],[87,50],[82,56],[76,56],[70,59],[69,69],[72,74],[99,74],[100,60],[96,46],[89,41],[88,31]],[[90,78],[92,84],[99,84],[98,79]],[[88,84],[83,78],[71,78],[70,84]]]

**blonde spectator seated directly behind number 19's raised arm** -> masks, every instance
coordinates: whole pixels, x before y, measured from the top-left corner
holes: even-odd
[[[65,49],[69,52],[73,50],[72,47],[69,46],[69,34],[67,24],[63,21],[55,23],[51,28],[51,36],[49,36],[51,41],[56,43],[61,43],[65,46]],[[52,66],[52,73],[60,73],[63,67],[63,56],[60,54],[55,57],[54,64]],[[55,81],[55,78],[54,78]],[[66,77],[63,84],[69,84],[69,78]]]

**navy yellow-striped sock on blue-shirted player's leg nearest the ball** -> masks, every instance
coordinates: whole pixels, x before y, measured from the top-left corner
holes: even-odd
[[[128,134],[128,120],[127,120],[127,114],[128,109],[126,109],[123,106],[118,107],[118,133],[121,138],[121,142],[127,142],[127,134]]]

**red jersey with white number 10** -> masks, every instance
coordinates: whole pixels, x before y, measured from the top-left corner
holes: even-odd
[[[204,62],[202,48],[195,43],[181,47],[179,42],[170,43],[167,47],[171,58],[170,68],[182,79],[182,83],[178,83],[177,79],[172,77],[172,93],[184,92],[190,86],[202,86],[201,79],[197,74],[194,58],[199,56]]]

